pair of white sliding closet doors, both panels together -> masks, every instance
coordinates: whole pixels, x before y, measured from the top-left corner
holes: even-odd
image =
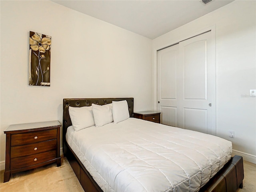
[[[164,54],[165,49],[158,52],[158,110],[163,124],[216,135],[214,47],[207,32],[175,45],[178,56]],[[168,87],[169,92],[163,91]]]

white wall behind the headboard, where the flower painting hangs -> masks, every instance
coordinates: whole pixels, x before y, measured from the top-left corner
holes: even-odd
[[[152,40],[51,1],[0,3],[2,164],[3,131],[62,123],[63,98],[134,97],[134,111],[154,108]],[[29,31],[52,36],[50,87],[28,86]]]

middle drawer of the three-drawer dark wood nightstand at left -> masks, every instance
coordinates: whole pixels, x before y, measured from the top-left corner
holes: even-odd
[[[50,150],[56,150],[57,139],[11,147],[11,158],[22,157]]]

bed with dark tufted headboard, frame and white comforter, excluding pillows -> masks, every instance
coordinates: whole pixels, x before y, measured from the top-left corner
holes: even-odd
[[[113,101],[127,101],[130,118],[74,130],[69,108],[106,106]],[[132,118],[133,103],[133,98],[63,99],[63,152],[86,192],[226,192],[242,188],[243,160],[240,156],[231,157],[230,142]],[[195,141],[198,139],[200,142]],[[211,144],[213,141],[216,143]],[[152,151],[156,146],[156,151]]]

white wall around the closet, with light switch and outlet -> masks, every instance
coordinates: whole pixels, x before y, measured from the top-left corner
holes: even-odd
[[[256,163],[256,1],[234,1],[153,40],[154,100],[156,50],[216,25],[216,133],[234,152]],[[156,105],[155,105],[156,108]],[[235,138],[228,137],[235,131]]]

